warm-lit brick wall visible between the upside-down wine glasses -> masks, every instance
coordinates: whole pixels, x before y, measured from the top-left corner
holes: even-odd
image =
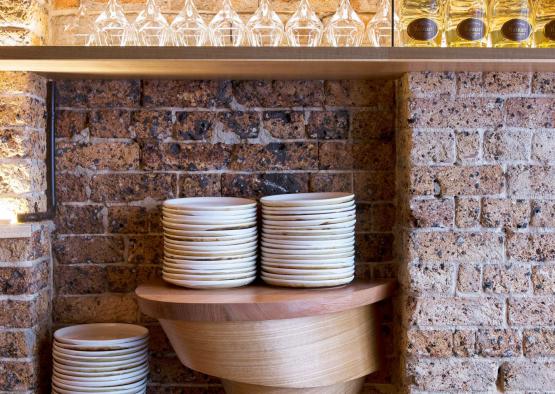
[[[1,0],[0,0],[1,1]],[[13,0],[10,0],[13,1]],[[89,18],[92,21],[104,10],[106,0],[90,0]],[[119,0],[123,5],[130,21],[144,9],[145,0]],[[158,0],[157,4],[162,7],[166,18],[171,22],[183,8],[184,0]],[[258,0],[232,0],[235,11],[247,22],[258,8]],[[273,9],[279,14],[284,23],[293,15],[298,0],[272,0]],[[336,11],[339,0],[313,0],[312,6],[322,21],[328,20]],[[1,3],[0,3],[1,4]],[[195,1],[198,11],[206,23],[209,23],[214,15],[221,9],[221,0],[197,0]],[[374,15],[378,0],[351,0],[351,5],[357,11],[364,23],[368,22]],[[80,0],[50,0],[50,43],[52,45],[64,45],[69,43],[69,38],[63,33],[64,25],[75,19]]]

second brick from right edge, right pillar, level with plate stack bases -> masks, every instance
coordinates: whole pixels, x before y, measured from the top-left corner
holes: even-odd
[[[530,268],[520,265],[485,265],[484,292],[526,293],[530,287]]]

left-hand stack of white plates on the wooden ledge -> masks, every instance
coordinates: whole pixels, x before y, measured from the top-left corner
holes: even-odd
[[[244,286],[256,278],[256,201],[233,197],[167,200],[163,278],[197,289]]]

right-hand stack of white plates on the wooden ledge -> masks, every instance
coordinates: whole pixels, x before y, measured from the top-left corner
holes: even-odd
[[[348,193],[263,197],[262,279],[288,287],[338,286],[355,272],[355,203]]]

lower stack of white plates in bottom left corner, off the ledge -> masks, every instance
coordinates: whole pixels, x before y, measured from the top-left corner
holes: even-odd
[[[54,333],[52,392],[145,393],[148,330],[132,324],[99,323]]]

